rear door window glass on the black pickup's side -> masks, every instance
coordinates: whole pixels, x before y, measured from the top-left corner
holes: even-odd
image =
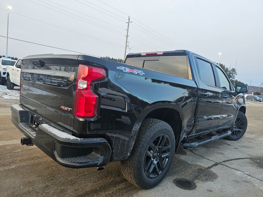
[[[215,77],[212,64],[199,58],[196,58],[196,63],[201,80],[207,85],[215,86]]]

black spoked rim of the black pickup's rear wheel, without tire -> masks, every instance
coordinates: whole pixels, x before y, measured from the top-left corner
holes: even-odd
[[[148,178],[156,178],[164,171],[170,149],[171,142],[166,134],[160,134],[151,141],[144,157],[144,172]]]

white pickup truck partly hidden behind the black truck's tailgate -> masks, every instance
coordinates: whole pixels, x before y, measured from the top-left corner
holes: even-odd
[[[13,66],[6,68],[6,87],[9,90],[13,90],[15,84],[20,86],[21,60],[22,58],[19,58]]]

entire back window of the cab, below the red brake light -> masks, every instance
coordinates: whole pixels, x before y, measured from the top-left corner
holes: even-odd
[[[127,58],[125,64],[189,79],[186,55]]]

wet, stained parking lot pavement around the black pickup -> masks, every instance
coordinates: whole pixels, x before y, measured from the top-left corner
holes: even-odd
[[[124,179],[119,162],[102,171],[70,169],[22,146],[24,136],[10,121],[10,106],[19,103],[15,89],[0,87],[0,196],[263,196],[263,102],[247,103],[248,128],[239,141],[180,147],[166,178],[140,190]]]

